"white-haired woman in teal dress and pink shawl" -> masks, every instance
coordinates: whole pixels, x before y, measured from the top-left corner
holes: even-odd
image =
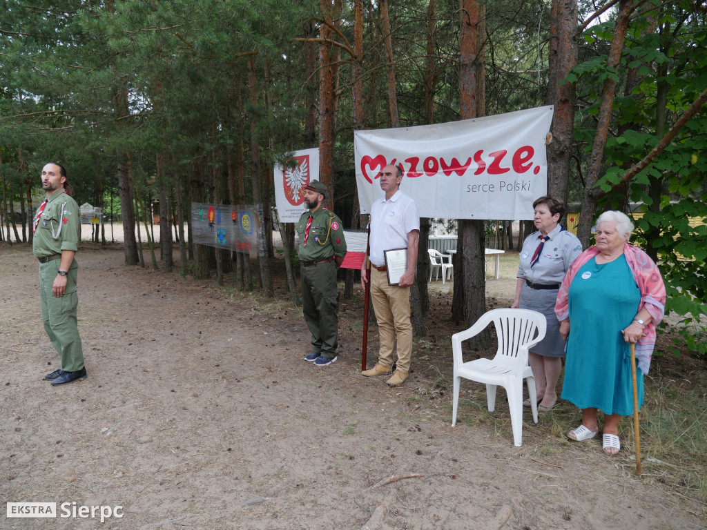
[[[559,290],[555,313],[567,338],[562,399],[582,409],[571,440],[590,440],[604,413],[603,448],[617,454],[619,420],[633,413],[629,343],[636,344],[639,407],[643,376],[665,310],[665,285],[648,254],[629,245],[631,220],[619,211],[597,219],[596,245],[574,261]]]

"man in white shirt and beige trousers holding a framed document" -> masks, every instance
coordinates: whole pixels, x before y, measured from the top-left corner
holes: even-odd
[[[370,208],[370,298],[378,320],[380,347],[378,363],[361,375],[391,375],[393,348],[397,339],[395,373],[386,382],[397,387],[407,379],[412,357],[412,322],[410,322],[410,285],[415,281],[417,246],[420,240],[420,213],[409,196],[400,192],[402,169],[387,165],[380,172],[380,189],[385,192]],[[388,285],[383,252],[407,248],[407,270],[399,285]],[[368,281],[366,262],[361,266],[361,285]]]

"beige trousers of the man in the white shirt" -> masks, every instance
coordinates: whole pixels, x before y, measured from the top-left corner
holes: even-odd
[[[388,285],[385,271],[370,269],[370,299],[378,320],[378,363],[393,365],[393,348],[397,338],[397,369],[410,373],[412,357],[412,322],[410,321],[410,288]]]

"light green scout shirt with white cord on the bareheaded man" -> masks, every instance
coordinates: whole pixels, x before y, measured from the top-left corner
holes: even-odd
[[[81,216],[78,204],[66,192],[54,192],[37,216],[39,218],[35,217],[37,228],[32,245],[35,257],[45,258],[62,254],[62,250],[78,250]]]

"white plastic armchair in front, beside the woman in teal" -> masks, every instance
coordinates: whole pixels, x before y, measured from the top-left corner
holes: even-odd
[[[464,363],[462,341],[478,335],[491,322],[496,324],[498,351],[493,359],[477,359]],[[486,383],[486,401],[489,411],[496,409],[496,387],[500,384],[508,395],[513,443],[520,447],[523,427],[523,379],[526,379],[532,419],[537,423],[535,379],[528,366],[528,350],[545,336],[547,321],[542,313],[522,309],[496,309],[486,312],[472,327],[452,335],[454,357],[454,401],[452,427],[457,423],[457,404],[462,377]]]

